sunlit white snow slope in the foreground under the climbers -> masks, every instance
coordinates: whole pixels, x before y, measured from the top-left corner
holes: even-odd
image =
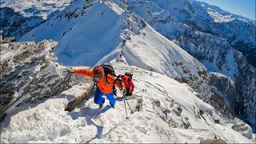
[[[114,67],[117,73],[134,72],[134,94],[143,98],[142,110],[130,114],[128,109],[129,118],[126,119],[122,98],[116,98],[114,109],[106,101],[103,109],[98,110],[92,96],[74,111],[64,111],[67,103],[82,94],[88,86],[82,83],[60,95],[34,104],[27,103],[10,111],[10,116],[1,123],[1,143],[198,143],[203,139],[214,139],[215,135],[226,142],[252,143],[230,129],[232,123],[227,123],[212,106],[197,98],[186,84],[135,66],[116,63]],[[134,110],[136,101],[130,99],[128,102]],[[199,110],[204,113],[198,116]],[[219,118],[221,124],[215,124],[214,118]],[[184,128],[186,125],[188,129]]]

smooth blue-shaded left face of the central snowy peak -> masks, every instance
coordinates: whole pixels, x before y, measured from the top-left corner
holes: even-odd
[[[110,2],[76,1],[21,41],[54,39],[59,42],[55,50],[59,62],[93,66],[121,42],[120,34],[126,27],[119,22],[125,16],[122,11]]]

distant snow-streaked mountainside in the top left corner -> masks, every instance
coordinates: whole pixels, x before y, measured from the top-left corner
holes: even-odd
[[[19,40],[24,34],[54,17],[72,0],[11,0],[0,6],[0,30]]]

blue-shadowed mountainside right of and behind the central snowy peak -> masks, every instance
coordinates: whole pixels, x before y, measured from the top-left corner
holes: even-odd
[[[255,61],[256,42],[254,40],[255,26],[252,23],[239,19],[230,22],[214,22],[214,18],[201,5],[197,2],[190,3],[187,0],[130,0],[122,5],[126,5],[127,9],[144,18],[154,30],[173,40],[197,58],[207,70],[230,77],[230,81],[234,82],[238,90],[236,94],[238,96],[234,97],[232,93],[224,95],[228,99],[234,99],[231,105],[243,107],[239,110],[237,108],[234,110],[234,107],[231,109],[255,127],[256,109],[252,107],[255,107],[256,70],[250,64],[254,64]],[[212,9],[216,9],[218,14],[225,15],[223,10]],[[239,41],[250,43],[240,43],[235,45],[234,49],[229,42],[232,38],[238,40],[237,36],[243,39]],[[224,37],[226,40],[223,39]],[[246,55],[243,56],[238,50]]]

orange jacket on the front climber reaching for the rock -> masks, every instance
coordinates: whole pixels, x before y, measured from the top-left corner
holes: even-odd
[[[100,66],[100,68],[102,69],[102,71],[104,71],[104,69],[102,68],[102,66]],[[86,69],[76,69],[74,70],[74,74],[81,74],[81,75],[85,75],[88,76],[90,78],[93,78],[93,70],[86,70]],[[105,81],[105,74],[103,74],[103,77],[100,78],[97,82],[97,86],[98,89],[101,90],[102,93],[104,94],[110,94],[113,92],[113,85],[118,86],[118,88],[120,88],[120,83],[118,81],[115,81],[116,78],[114,78],[112,75],[107,74],[107,83]],[[122,86],[125,87],[125,84],[122,82]]]

